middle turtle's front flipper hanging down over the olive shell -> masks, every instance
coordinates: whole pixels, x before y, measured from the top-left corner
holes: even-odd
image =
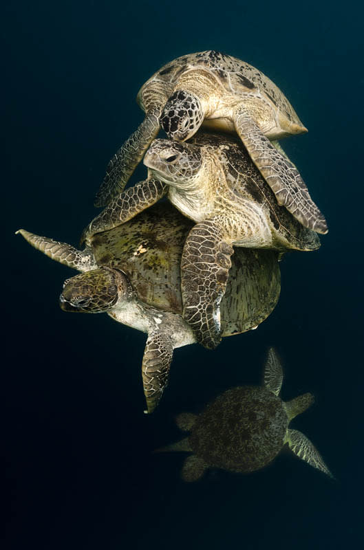
[[[183,318],[193,329],[197,342],[208,349],[217,347],[222,338],[220,302],[225,294],[233,252],[214,220],[197,223],[184,244]]]

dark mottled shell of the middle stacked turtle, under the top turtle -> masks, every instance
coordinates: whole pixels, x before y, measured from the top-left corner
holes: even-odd
[[[317,250],[320,246],[316,232],[304,227],[284,206],[279,206],[274,193],[250,159],[240,140],[231,135],[197,133],[190,140],[201,147],[211,147],[224,166],[226,181],[232,195],[250,199],[268,208],[275,229],[295,250]],[[271,147],[273,145],[270,144]]]

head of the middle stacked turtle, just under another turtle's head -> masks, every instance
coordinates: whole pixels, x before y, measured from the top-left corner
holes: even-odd
[[[167,184],[191,184],[202,166],[200,147],[173,140],[154,140],[143,160],[156,178]]]

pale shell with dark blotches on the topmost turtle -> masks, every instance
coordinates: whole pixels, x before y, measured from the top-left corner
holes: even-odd
[[[184,71],[200,67],[208,69],[228,94],[266,96],[272,107],[279,109],[290,122],[301,124],[286,96],[268,76],[245,61],[215,50],[181,56],[167,63],[142,86],[138,98],[141,98],[143,91],[152,81],[163,83],[169,96],[175,81]]]

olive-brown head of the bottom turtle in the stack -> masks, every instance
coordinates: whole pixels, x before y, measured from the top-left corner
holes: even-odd
[[[116,305],[119,298],[128,295],[126,276],[109,267],[100,267],[67,279],[59,297],[63,311],[98,314]]]

